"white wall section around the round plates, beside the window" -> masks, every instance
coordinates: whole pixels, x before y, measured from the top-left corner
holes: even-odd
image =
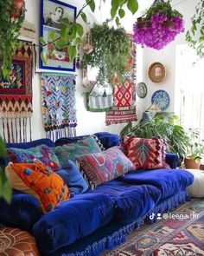
[[[195,11],[195,5],[199,1],[192,1],[192,0],[175,0],[174,8],[178,11],[180,11],[183,15],[184,21],[185,21],[185,32],[181,33],[180,35],[175,37],[175,41],[169,43],[166,47],[164,47],[161,50],[156,49],[144,49],[143,50],[143,81],[146,82],[148,87],[148,94],[146,97],[146,108],[148,108],[151,104],[151,95],[157,90],[157,89],[164,89],[169,93],[170,96],[170,104],[169,108],[167,108],[165,111],[172,112],[175,111],[175,51],[176,51],[176,45],[184,44],[186,32],[191,26],[190,18],[194,15]],[[163,82],[154,83],[150,81],[150,78],[148,77],[148,69],[150,67],[150,64],[153,62],[162,62],[164,67],[166,68],[166,79]]]

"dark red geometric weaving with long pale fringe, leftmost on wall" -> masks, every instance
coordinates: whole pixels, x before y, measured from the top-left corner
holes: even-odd
[[[8,79],[0,77],[0,128],[6,142],[31,141],[32,43],[22,41]]]

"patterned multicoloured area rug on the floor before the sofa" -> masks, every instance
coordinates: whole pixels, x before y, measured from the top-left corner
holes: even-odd
[[[203,256],[204,199],[193,200],[172,213],[157,216],[153,225],[135,230],[106,256]]]

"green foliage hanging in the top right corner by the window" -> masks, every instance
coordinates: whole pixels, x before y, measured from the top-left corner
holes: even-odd
[[[196,5],[191,22],[192,26],[187,31],[186,41],[191,48],[196,49],[198,56],[204,57],[204,0],[200,0]]]

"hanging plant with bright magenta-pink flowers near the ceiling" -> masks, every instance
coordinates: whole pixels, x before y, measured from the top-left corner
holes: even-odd
[[[173,10],[170,1],[156,0],[134,24],[134,42],[153,49],[163,49],[184,31],[182,14]]]

